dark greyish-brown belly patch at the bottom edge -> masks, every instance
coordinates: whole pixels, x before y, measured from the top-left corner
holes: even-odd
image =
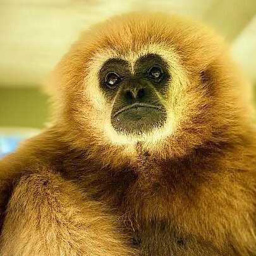
[[[229,251],[226,248],[221,252],[211,241],[200,240],[193,234],[181,234],[163,221],[142,224],[140,230],[135,231],[132,243],[140,256],[223,256]]]

